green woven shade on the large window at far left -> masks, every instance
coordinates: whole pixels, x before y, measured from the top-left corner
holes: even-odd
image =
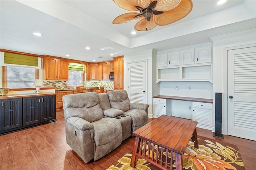
[[[4,53],[4,64],[38,66],[38,57],[13,53]]]

